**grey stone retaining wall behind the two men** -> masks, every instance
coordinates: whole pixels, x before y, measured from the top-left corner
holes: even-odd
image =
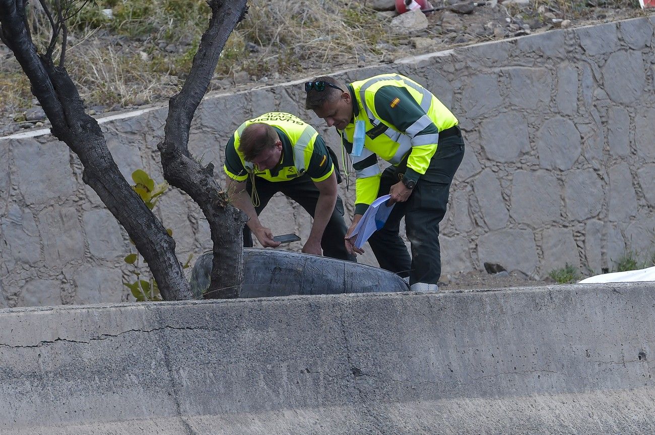
[[[441,225],[445,273],[487,261],[539,277],[567,263],[599,273],[626,249],[652,252],[654,27],[654,17],[636,18],[337,74],[409,75],[460,119],[467,147]],[[320,127],[338,154],[335,131],[302,108],[305,79],[208,96],[189,148],[214,162],[223,179],[223,147],[233,130],[255,114],[288,111]],[[166,111],[102,120],[128,179],[139,168],[163,179],[156,145]],[[119,269],[128,237],[84,185],[81,169],[48,131],[0,139],[0,307],[126,300]],[[348,215],[353,194],[342,192]],[[184,194],[168,192],[155,211],[174,230],[182,261],[210,247],[208,226]],[[309,235],[309,215],[283,196],[262,220],[275,234]],[[370,252],[362,260],[375,264]]]

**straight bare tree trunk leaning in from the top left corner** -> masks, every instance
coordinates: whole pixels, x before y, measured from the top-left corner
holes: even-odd
[[[175,254],[175,241],[122,177],[98,122],[84,113],[83,101],[64,66],[55,66],[50,53],[37,53],[26,27],[24,0],[0,0],[0,25],[0,37],[28,76],[32,93],[52,123],[52,134],[79,156],[84,183],[128,232],[164,300],[192,298]]]

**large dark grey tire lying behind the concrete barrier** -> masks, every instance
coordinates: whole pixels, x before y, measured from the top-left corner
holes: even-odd
[[[244,248],[244,266],[241,298],[409,290],[407,283],[390,271],[299,252]],[[205,294],[211,271],[212,252],[208,251],[191,271],[191,290],[196,298],[203,294],[212,298]]]

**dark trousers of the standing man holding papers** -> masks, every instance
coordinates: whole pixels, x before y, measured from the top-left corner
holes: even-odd
[[[440,139],[426,173],[403,203],[396,203],[384,227],[373,233],[369,245],[380,267],[414,283],[436,284],[441,276],[439,223],[446,213],[451,183],[464,158],[460,135]],[[405,163],[406,164],[406,163]],[[390,166],[382,173],[378,198],[389,193],[405,173],[405,164]],[[400,237],[400,220],[405,217],[411,257]]]

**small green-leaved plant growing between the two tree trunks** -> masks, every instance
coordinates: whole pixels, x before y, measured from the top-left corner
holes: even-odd
[[[132,189],[140,196],[141,200],[145,203],[145,206],[150,210],[155,208],[157,201],[159,201],[161,196],[168,189],[168,183],[166,183],[166,181],[164,181],[164,183],[155,184],[155,181],[150,177],[150,175],[142,169],[137,169],[132,173],[132,180],[135,183],[132,185]],[[171,237],[173,236],[173,230],[170,228],[166,228],[166,232]],[[132,239],[130,239],[130,243],[134,245]],[[193,258],[193,254],[189,254],[187,262],[182,266],[183,269],[189,268],[191,258]],[[130,289],[132,296],[134,296],[137,302],[163,300],[152,273],[149,270],[147,272],[141,271],[141,262],[145,264],[145,260],[141,258],[139,253],[130,252],[130,254],[124,258],[124,261],[133,266],[130,273],[135,275],[136,279],[134,282],[123,282],[123,285]],[[143,279],[144,277],[145,279]]]

